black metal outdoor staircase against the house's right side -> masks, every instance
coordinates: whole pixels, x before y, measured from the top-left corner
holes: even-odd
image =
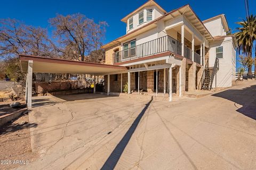
[[[205,64],[205,69],[201,78],[202,87],[201,90],[211,90],[214,76],[219,71],[219,59],[216,58],[213,67],[209,67],[209,60]],[[217,78],[215,78],[215,81]]]

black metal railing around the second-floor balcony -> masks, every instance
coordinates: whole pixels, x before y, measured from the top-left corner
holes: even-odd
[[[114,53],[113,63],[121,63],[164,52],[181,55],[181,46],[182,44],[178,40],[170,36],[164,36]],[[192,53],[191,49],[184,47],[184,56],[189,60],[192,60]],[[200,60],[195,62],[200,64]]]

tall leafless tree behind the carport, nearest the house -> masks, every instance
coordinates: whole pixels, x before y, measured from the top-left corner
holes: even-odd
[[[101,46],[101,39],[105,35],[106,22],[95,23],[82,14],[57,15],[50,19],[55,28],[54,38],[58,38],[59,45],[53,45],[63,58],[84,61],[85,56]]]

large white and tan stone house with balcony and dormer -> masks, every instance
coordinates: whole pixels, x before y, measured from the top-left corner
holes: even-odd
[[[225,15],[201,21],[189,5],[166,12],[150,0],[122,19],[126,34],[103,45],[106,92],[145,91],[182,96],[185,91],[229,87],[235,80],[234,37]]]

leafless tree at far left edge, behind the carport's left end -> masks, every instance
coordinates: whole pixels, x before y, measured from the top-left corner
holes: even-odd
[[[14,19],[0,20],[0,56],[3,58],[19,54],[49,56],[52,52],[45,29]]]

